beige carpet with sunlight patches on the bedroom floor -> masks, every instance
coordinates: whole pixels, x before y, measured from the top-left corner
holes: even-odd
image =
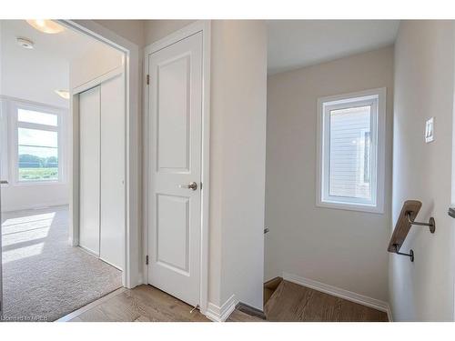
[[[121,272],[68,244],[67,206],[2,216],[4,320],[54,321],[122,286]]]

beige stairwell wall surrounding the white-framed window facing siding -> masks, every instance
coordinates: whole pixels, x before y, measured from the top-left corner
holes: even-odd
[[[387,87],[384,214],[316,207],[319,97]],[[268,77],[266,279],[283,272],[388,298],[393,47]]]

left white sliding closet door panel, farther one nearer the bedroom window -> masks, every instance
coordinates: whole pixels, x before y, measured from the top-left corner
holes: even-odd
[[[100,86],[79,95],[79,246],[99,256]]]

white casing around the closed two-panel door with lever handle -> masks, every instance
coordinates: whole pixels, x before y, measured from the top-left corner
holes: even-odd
[[[190,35],[202,32],[202,157],[201,157],[201,230],[200,230],[200,279],[199,279],[199,310],[206,314],[208,301],[208,218],[209,218],[209,171],[210,171],[210,20],[198,20],[187,25],[173,34],[167,35],[157,42],[147,45],[144,49],[144,79],[148,75],[148,57],[169,45],[173,45]],[[148,110],[148,85],[144,85],[144,173],[143,173],[143,250],[144,259],[148,255],[148,222],[151,221],[148,212],[148,188],[149,188],[149,110]],[[147,265],[144,262],[144,283],[148,283]]]

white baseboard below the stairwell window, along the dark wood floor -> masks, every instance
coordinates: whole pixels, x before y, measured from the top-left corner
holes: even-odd
[[[347,299],[348,301],[351,301],[351,302],[359,303],[360,305],[363,305],[363,306],[369,306],[369,307],[378,309],[379,311],[383,311],[383,312],[387,313],[389,321],[390,322],[392,321],[392,315],[391,315],[389,303],[387,303],[385,301],[381,301],[379,299],[372,298],[369,296],[360,295],[360,294],[354,293],[349,290],[341,289],[337,286],[330,286],[325,283],[315,281],[313,279],[289,274],[287,272],[283,272],[283,279],[285,279],[289,282],[298,284],[300,286],[307,286],[311,289],[315,289],[315,290],[318,290],[320,292],[323,292],[323,293],[326,293],[326,294],[329,294],[332,296],[337,296],[340,298]]]

